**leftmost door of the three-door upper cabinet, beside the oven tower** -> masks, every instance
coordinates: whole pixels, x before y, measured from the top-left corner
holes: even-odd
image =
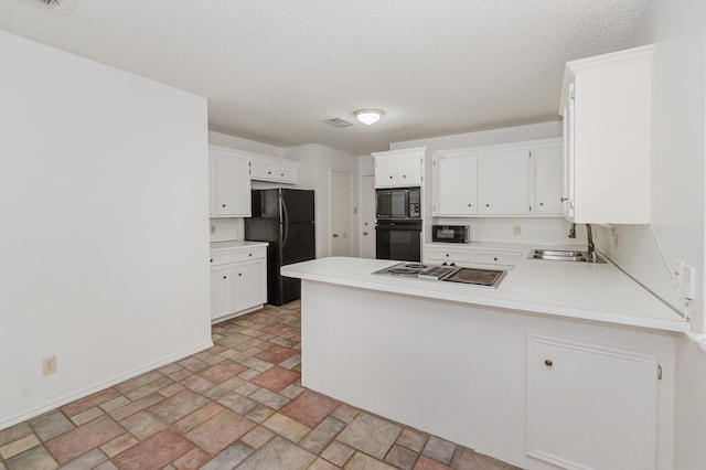
[[[478,153],[437,152],[432,157],[431,175],[432,215],[478,213]]]

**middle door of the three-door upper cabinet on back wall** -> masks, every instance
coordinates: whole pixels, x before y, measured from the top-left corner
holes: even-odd
[[[530,151],[499,149],[480,154],[481,215],[530,213]]]

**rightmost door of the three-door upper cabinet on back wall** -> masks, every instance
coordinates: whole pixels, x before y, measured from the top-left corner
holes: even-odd
[[[561,214],[561,142],[532,147],[532,213]]]

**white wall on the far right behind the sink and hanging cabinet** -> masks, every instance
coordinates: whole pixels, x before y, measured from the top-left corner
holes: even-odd
[[[694,312],[704,332],[704,224],[706,130],[706,2],[652,0],[631,45],[654,42],[652,120],[652,228],[619,226],[613,253],[631,275],[655,292],[672,290],[670,267],[684,259],[697,271]],[[653,229],[653,233],[652,233]],[[665,254],[662,260],[659,246]],[[651,263],[648,260],[652,260]],[[673,292],[673,290],[672,290]],[[670,297],[678,307],[678,299]],[[706,463],[706,352],[681,337],[676,351],[674,469]]]

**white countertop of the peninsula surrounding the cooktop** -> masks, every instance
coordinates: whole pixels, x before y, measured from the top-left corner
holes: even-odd
[[[306,280],[447,301],[665,331],[691,331],[691,323],[611,263],[526,259],[527,247],[483,245],[474,244],[473,248],[522,252],[515,268],[507,271],[496,289],[372,275],[373,271],[399,263],[386,259],[319,258],[284,266],[281,274]]]

